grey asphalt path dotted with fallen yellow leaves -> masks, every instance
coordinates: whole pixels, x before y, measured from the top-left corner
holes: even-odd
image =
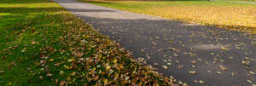
[[[55,2],[130,50],[135,59],[158,68],[167,77],[175,77],[191,86],[252,86],[256,83],[254,35],[75,0]]]

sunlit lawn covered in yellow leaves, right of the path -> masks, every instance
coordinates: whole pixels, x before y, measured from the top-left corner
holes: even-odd
[[[171,20],[219,26],[256,33],[256,5],[222,1],[106,1],[79,0],[114,9],[150,14]]]

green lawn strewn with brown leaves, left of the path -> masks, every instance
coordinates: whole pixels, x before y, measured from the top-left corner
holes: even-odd
[[[49,0],[1,0],[0,85],[176,85]]]

